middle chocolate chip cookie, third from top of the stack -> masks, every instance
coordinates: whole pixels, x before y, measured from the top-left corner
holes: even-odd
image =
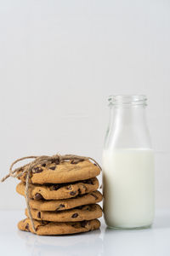
[[[102,195],[99,191],[94,191],[84,195],[77,195],[70,199],[62,200],[30,200],[30,207],[39,211],[63,211],[75,207],[89,204],[95,204],[102,201]]]

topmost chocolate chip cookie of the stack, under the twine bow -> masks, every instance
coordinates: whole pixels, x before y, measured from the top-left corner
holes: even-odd
[[[69,160],[61,163],[48,163],[33,168],[30,177],[31,183],[72,183],[96,177],[100,169],[89,160]],[[20,177],[26,181],[26,173]]]

